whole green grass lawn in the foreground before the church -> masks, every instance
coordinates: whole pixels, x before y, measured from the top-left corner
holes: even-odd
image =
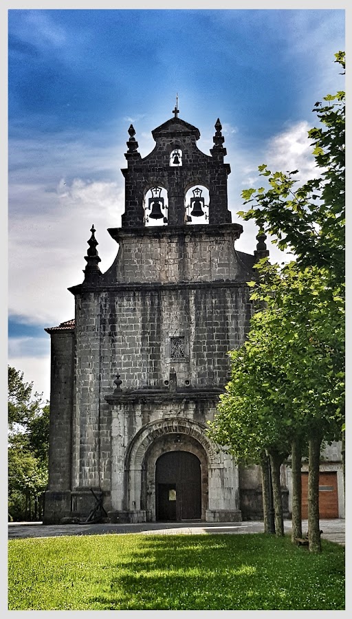
[[[9,610],[343,610],[344,547],[268,534],[8,543]]]

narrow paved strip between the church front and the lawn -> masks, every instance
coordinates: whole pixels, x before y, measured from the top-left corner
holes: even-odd
[[[307,532],[307,520],[303,521],[303,534]],[[292,523],[284,521],[285,533],[292,530]],[[320,520],[322,539],[345,544],[344,520]],[[138,523],[138,524],[80,524],[43,525],[42,523],[8,523],[8,539],[25,537],[59,537],[63,535],[104,535],[122,533],[143,534],[205,534],[205,533],[263,533],[262,522],[188,522],[188,523]]]

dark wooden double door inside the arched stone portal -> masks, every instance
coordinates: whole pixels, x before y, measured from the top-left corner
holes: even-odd
[[[156,519],[180,522],[201,519],[201,465],[188,451],[170,451],[157,459]]]

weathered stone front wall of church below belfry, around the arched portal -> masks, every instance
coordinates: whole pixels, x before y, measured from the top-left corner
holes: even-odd
[[[74,512],[89,513],[93,488],[104,492],[111,513],[145,519],[148,511],[154,517],[146,501],[141,507],[140,473],[126,481],[126,454],[144,426],[175,414],[175,408],[160,407],[157,393],[152,406],[130,402],[128,413],[126,405],[111,406],[114,380],[119,374],[127,394],[167,391],[174,381],[175,391],[184,391],[177,415],[202,427],[212,418],[211,398],[200,404],[192,391],[221,392],[230,370],[228,351],[245,340],[252,314],[245,283],[252,262],[243,262],[233,247],[239,231],[234,224],[113,230],[120,248],[109,271],[70,289],[76,296]],[[173,354],[175,340],[179,356]],[[209,468],[208,484],[206,518],[239,519],[238,474],[229,457]],[[128,492],[139,492],[134,515]]]

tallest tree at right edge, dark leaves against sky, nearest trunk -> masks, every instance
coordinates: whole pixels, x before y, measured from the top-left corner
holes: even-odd
[[[344,52],[335,54],[335,62],[344,69]],[[242,213],[242,215],[244,219],[254,219],[263,232],[272,235],[273,241],[278,244],[279,248],[292,251],[298,270],[307,272],[307,268],[318,268],[320,277],[331,297],[341,302],[344,300],[344,91],[338,91],[335,95],[328,94],[324,101],[324,105],[316,102],[314,106],[320,126],[308,132],[314,146],[316,169],[320,175],[295,188],[297,170],[291,173],[272,173],[265,164],[259,166],[261,175],[267,177],[269,189],[265,191],[261,187],[259,190],[244,191],[242,195],[245,202],[253,204],[247,213]],[[265,279],[265,266],[261,275]],[[317,290],[308,287],[305,298],[308,305],[311,303],[310,297],[325,294],[325,288],[320,287],[320,293],[318,293]],[[340,384],[340,377],[344,372],[344,349],[341,349],[340,343],[336,348],[334,345],[331,347],[331,343],[333,344],[333,328],[336,322],[338,322],[338,333],[343,332],[341,327],[341,321],[344,319],[343,312],[336,312],[334,303],[327,303],[325,311],[327,320],[322,321],[324,333],[320,329],[316,342],[319,342],[320,351],[323,348],[325,351],[331,348],[329,367],[333,376],[337,376],[337,382]],[[303,325],[304,321],[303,316]],[[319,383],[319,377],[317,378]],[[298,380],[298,375],[296,380]],[[333,394],[331,398],[328,417],[334,414]],[[338,402],[335,406],[337,420],[341,417],[341,411],[342,404]],[[344,424],[342,424],[343,428]],[[344,452],[344,441],[342,445]],[[320,440],[317,433],[315,437],[311,435],[309,439],[309,550],[312,551],[320,550],[319,458]]]

